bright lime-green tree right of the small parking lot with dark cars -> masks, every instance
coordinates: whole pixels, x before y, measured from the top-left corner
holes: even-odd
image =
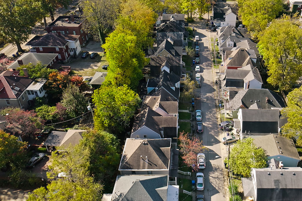
[[[106,38],[106,43],[102,46],[110,66],[106,82],[137,88],[139,80],[143,78],[142,69],[147,61],[139,41],[136,36],[117,30]]]

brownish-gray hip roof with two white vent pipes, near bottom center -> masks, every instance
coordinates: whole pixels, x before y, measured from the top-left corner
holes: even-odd
[[[168,170],[171,139],[127,138],[119,170]],[[142,158],[140,156],[143,156]],[[148,161],[146,160],[148,157]]]

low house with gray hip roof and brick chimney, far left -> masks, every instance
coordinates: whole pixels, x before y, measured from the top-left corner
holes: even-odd
[[[22,54],[17,61],[14,61],[14,63],[8,67],[8,69],[17,71],[17,68],[21,65],[27,65],[29,63],[37,65],[38,62],[41,62],[46,68],[58,68],[60,66],[56,63],[58,60],[58,54],[28,52]]]

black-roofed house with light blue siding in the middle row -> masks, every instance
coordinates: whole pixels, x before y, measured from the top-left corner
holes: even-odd
[[[160,88],[164,88],[174,98],[179,99],[180,77],[175,73],[162,71],[159,77],[149,79],[147,82],[147,94],[152,94]]]

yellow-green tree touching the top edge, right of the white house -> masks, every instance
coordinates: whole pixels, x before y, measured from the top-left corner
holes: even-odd
[[[279,12],[283,10],[282,0],[239,0],[238,14],[242,23],[258,37]]]

